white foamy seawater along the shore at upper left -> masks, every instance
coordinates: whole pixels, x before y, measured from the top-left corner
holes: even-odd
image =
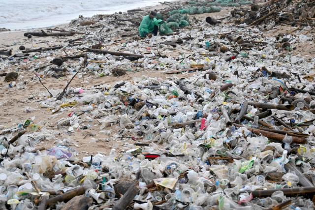
[[[159,0],[0,0],[0,28],[11,30],[68,23],[78,15],[126,12]]]

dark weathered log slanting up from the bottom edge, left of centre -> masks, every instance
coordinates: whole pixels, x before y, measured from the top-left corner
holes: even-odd
[[[133,198],[139,193],[139,181],[136,180],[126,191],[126,193],[119,199],[118,203],[112,208],[112,210],[125,210],[131,203]]]

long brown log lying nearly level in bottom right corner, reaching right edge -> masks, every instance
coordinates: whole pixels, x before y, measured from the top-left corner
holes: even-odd
[[[276,191],[283,191],[285,196],[297,196],[297,195],[307,195],[314,194],[315,187],[297,187],[297,188],[284,188],[284,189],[268,189],[268,190],[253,190],[247,191],[249,194],[252,193],[254,198],[259,197],[270,197],[272,193]]]

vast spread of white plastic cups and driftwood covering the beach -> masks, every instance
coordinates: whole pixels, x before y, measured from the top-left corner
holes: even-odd
[[[130,30],[142,13],[26,33],[70,39],[0,59],[2,71],[27,67],[3,75],[11,89],[70,75],[23,108],[45,109],[54,123],[0,126],[0,209],[314,209],[315,59],[295,54],[313,37],[190,19],[193,29],[139,39]],[[139,70],[169,77],[132,76]],[[93,85],[72,86],[77,77]],[[109,134],[109,152],[78,158],[71,134],[92,128]]]

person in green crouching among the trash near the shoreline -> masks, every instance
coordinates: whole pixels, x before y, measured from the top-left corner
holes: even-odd
[[[150,15],[143,17],[141,24],[139,26],[140,37],[152,37],[153,35],[158,35],[158,25],[163,23],[163,20],[158,20],[156,11],[151,11]]]

